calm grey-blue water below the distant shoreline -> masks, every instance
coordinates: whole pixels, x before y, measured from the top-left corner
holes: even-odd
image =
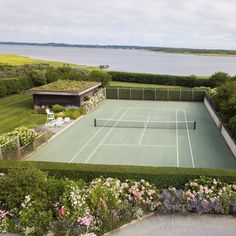
[[[211,75],[224,71],[236,74],[236,57],[166,54],[145,50],[0,45],[0,54],[4,53],[83,65],[107,64],[110,70],[118,71],[176,75]]]

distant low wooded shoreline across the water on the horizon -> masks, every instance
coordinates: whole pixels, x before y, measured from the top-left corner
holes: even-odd
[[[153,46],[132,45],[89,45],[89,44],[66,44],[66,43],[27,43],[27,42],[0,42],[0,45],[19,46],[47,46],[47,47],[69,47],[69,48],[102,48],[102,49],[135,49],[147,50],[160,53],[186,54],[196,56],[236,56],[236,50],[224,49],[193,49],[193,48],[170,48]]]

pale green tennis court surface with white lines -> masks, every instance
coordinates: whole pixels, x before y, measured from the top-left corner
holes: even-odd
[[[236,169],[200,102],[106,100],[28,160]]]

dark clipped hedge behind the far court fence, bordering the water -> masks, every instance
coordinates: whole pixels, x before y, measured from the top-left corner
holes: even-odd
[[[161,75],[161,74],[144,74],[109,71],[113,81],[133,82],[146,84],[176,85],[185,87],[213,87],[209,79],[199,79],[196,76],[177,76],[177,75]]]

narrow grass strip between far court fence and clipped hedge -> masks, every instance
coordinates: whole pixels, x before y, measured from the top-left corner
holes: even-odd
[[[171,86],[171,85],[159,85],[159,84],[141,84],[141,83],[129,83],[129,82],[117,82],[111,81],[109,87],[120,88],[169,88],[169,89],[192,89],[183,86]]]

